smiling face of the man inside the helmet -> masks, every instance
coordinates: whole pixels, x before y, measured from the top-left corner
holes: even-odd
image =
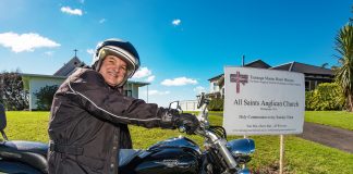
[[[118,57],[107,55],[102,61],[99,73],[110,86],[117,86],[124,79],[127,65]]]

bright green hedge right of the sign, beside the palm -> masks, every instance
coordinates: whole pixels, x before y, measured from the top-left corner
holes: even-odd
[[[315,90],[305,92],[307,111],[342,110],[343,108],[344,96],[336,83],[319,84]]]

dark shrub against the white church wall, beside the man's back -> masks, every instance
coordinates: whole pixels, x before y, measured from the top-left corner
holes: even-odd
[[[45,86],[40,88],[38,92],[35,92],[35,96],[37,97],[37,110],[40,111],[49,111],[51,107],[51,102],[53,99],[53,95],[58,90],[58,85],[52,86]]]

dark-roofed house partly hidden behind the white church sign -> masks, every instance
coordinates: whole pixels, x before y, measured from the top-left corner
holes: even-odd
[[[245,67],[282,70],[289,72],[303,73],[305,77],[305,90],[314,90],[317,85],[321,83],[333,82],[333,71],[320,66],[309,65],[300,62],[290,62],[277,66],[270,66],[261,60],[244,64]],[[208,98],[223,98],[224,97],[224,74],[211,77],[209,80]]]

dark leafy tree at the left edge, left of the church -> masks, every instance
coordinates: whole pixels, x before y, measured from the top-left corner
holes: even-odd
[[[21,74],[16,72],[3,72],[0,74],[0,102],[7,110],[28,109],[28,92],[23,89]]]

